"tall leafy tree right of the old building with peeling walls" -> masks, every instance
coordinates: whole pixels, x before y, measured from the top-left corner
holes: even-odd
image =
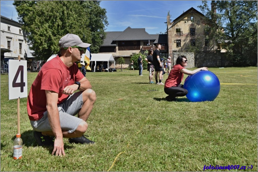
[[[224,43],[226,55],[235,65],[257,64],[257,1],[207,1],[198,6],[210,32],[207,38]]]

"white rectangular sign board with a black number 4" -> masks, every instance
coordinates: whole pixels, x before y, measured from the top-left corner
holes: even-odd
[[[27,61],[9,60],[9,100],[27,97]]]

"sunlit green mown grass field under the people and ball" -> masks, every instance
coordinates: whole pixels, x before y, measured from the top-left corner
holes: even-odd
[[[17,100],[9,100],[8,75],[1,75],[1,171],[203,171],[204,165],[257,171],[257,67],[209,70],[221,83],[211,102],[167,102],[164,86],[148,84],[147,70],[144,76],[137,70],[87,72],[97,100],[85,134],[96,143],[64,138],[65,157],[37,145],[22,98],[21,160],[12,158]],[[28,92],[36,75],[28,73]]]

